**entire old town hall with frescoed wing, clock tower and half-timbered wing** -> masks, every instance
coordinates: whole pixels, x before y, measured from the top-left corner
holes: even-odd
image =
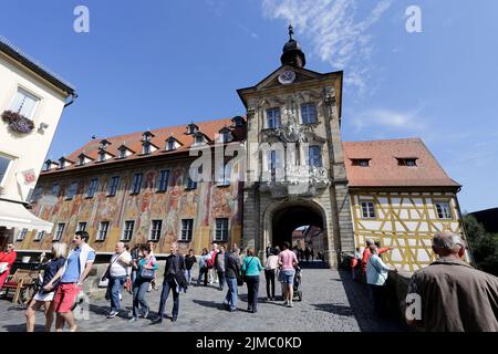
[[[435,231],[463,232],[460,186],[418,138],[342,142],[343,72],[304,69],[292,28],[281,63],[238,90],[243,117],[93,139],[48,160],[33,212],[54,228],[19,230],[18,249],[86,230],[104,254],[120,240],[152,240],[157,254],[174,241],[196,254],[215,241],[263,257],[305,227],[331,267],[365,238],[395,247],[385,260],[401,269],[428,264]],[[198,150],[212,164],[194,168]]]

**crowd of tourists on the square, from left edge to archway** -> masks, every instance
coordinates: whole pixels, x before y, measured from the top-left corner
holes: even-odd
[[[82,293],[83,284],[95,261],[96,252],[89,244],[90,236],[86,231],[77,231],[72,240],[73,249],[69,252],[65,243],[53,242],[51,254],[42,253],[38,270],[43,271],[41,282],[34,296],[28,302],[25,317],[27,331],[33,332],[35,312],[43,308],[45,314],[45,331],[50,332],[55,317],[55,330],[63,331],[68,326],[71,332],[77,331],[73,315],[77,296]],[[152,324],[159,324],[165,319],[166,302],[173,293],[172,322],[177,321],[180,310],[180,293],[187,292],[190,285],[207,287],[215,284],[219,291],[227,288],[220,304],[230,312],[238,311],[239,288],[247,287],[247,312],[258,312],[260,273],[264,270],[267,280],[267,301],[277,301],[276,279],[282,284],[283,305],[292,308],[293,283],[295,268],[299,266],[297,252],[290,249],[288,242],[279,247],[267,249],[264,266],[257,257],[253,248],[248,248],[243,256],[234,246],[227,250],[225,246],[212,243],[210,250],[204,249],[200,257],[190,249],[183,256],[178,244],[172,243],[166,257],[163,279],[163,290],[159,298],[157,313],[153,315],[147,303],[147,293],[157,290],[157,273],[159,263],[154,254],[154,243],[136,244],[132,250],[123,242],[117,242],[115,252],[111,257],[98,285],[106,288],[105,299],[110,301],[107,319],[124,314],[122,309],[122,292],[127,290],[132,294],[133,311],[129,322],[148,319]],[[9,244],[6,252],[0,253],[6,273],[15,260],[13,246]],[[198,274],[193,273],[194,264],[198,263]],[[3,272],[1,274],[3,277]],[[3,284],[3,282],[1,282]]]

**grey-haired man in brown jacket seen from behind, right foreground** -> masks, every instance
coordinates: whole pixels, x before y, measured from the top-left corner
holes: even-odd
[[[464,261],[465,244],[453,232],[434,236],[437,261],[412,277],[408,324],[426,332],[498,332],[498,278]]]

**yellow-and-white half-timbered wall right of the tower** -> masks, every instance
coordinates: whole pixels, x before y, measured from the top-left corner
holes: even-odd
[[[450,230],[465,238],[454,192],[362,191],[352,192],[351,201],[355,247],[363,251],[366,239],[380,241],[381,247],[394,247],[382,258],[405,271],[418,270],[436,259],[432,238],[437,231]],[[374,204],[375,218],[363,217],[363,201]],[[438,218],[437,201],[449,204],[452,218]]]

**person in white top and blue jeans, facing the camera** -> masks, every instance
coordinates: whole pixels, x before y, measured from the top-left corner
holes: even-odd
[[[126,251],[123,242],[117,242],[115,253],[111,258],[108,270],[108,291],[111,292],[111,312],[107,319],[115,317],[121,310],[120,295],[123,284],[129,277],[132,266],[132,256]]]

